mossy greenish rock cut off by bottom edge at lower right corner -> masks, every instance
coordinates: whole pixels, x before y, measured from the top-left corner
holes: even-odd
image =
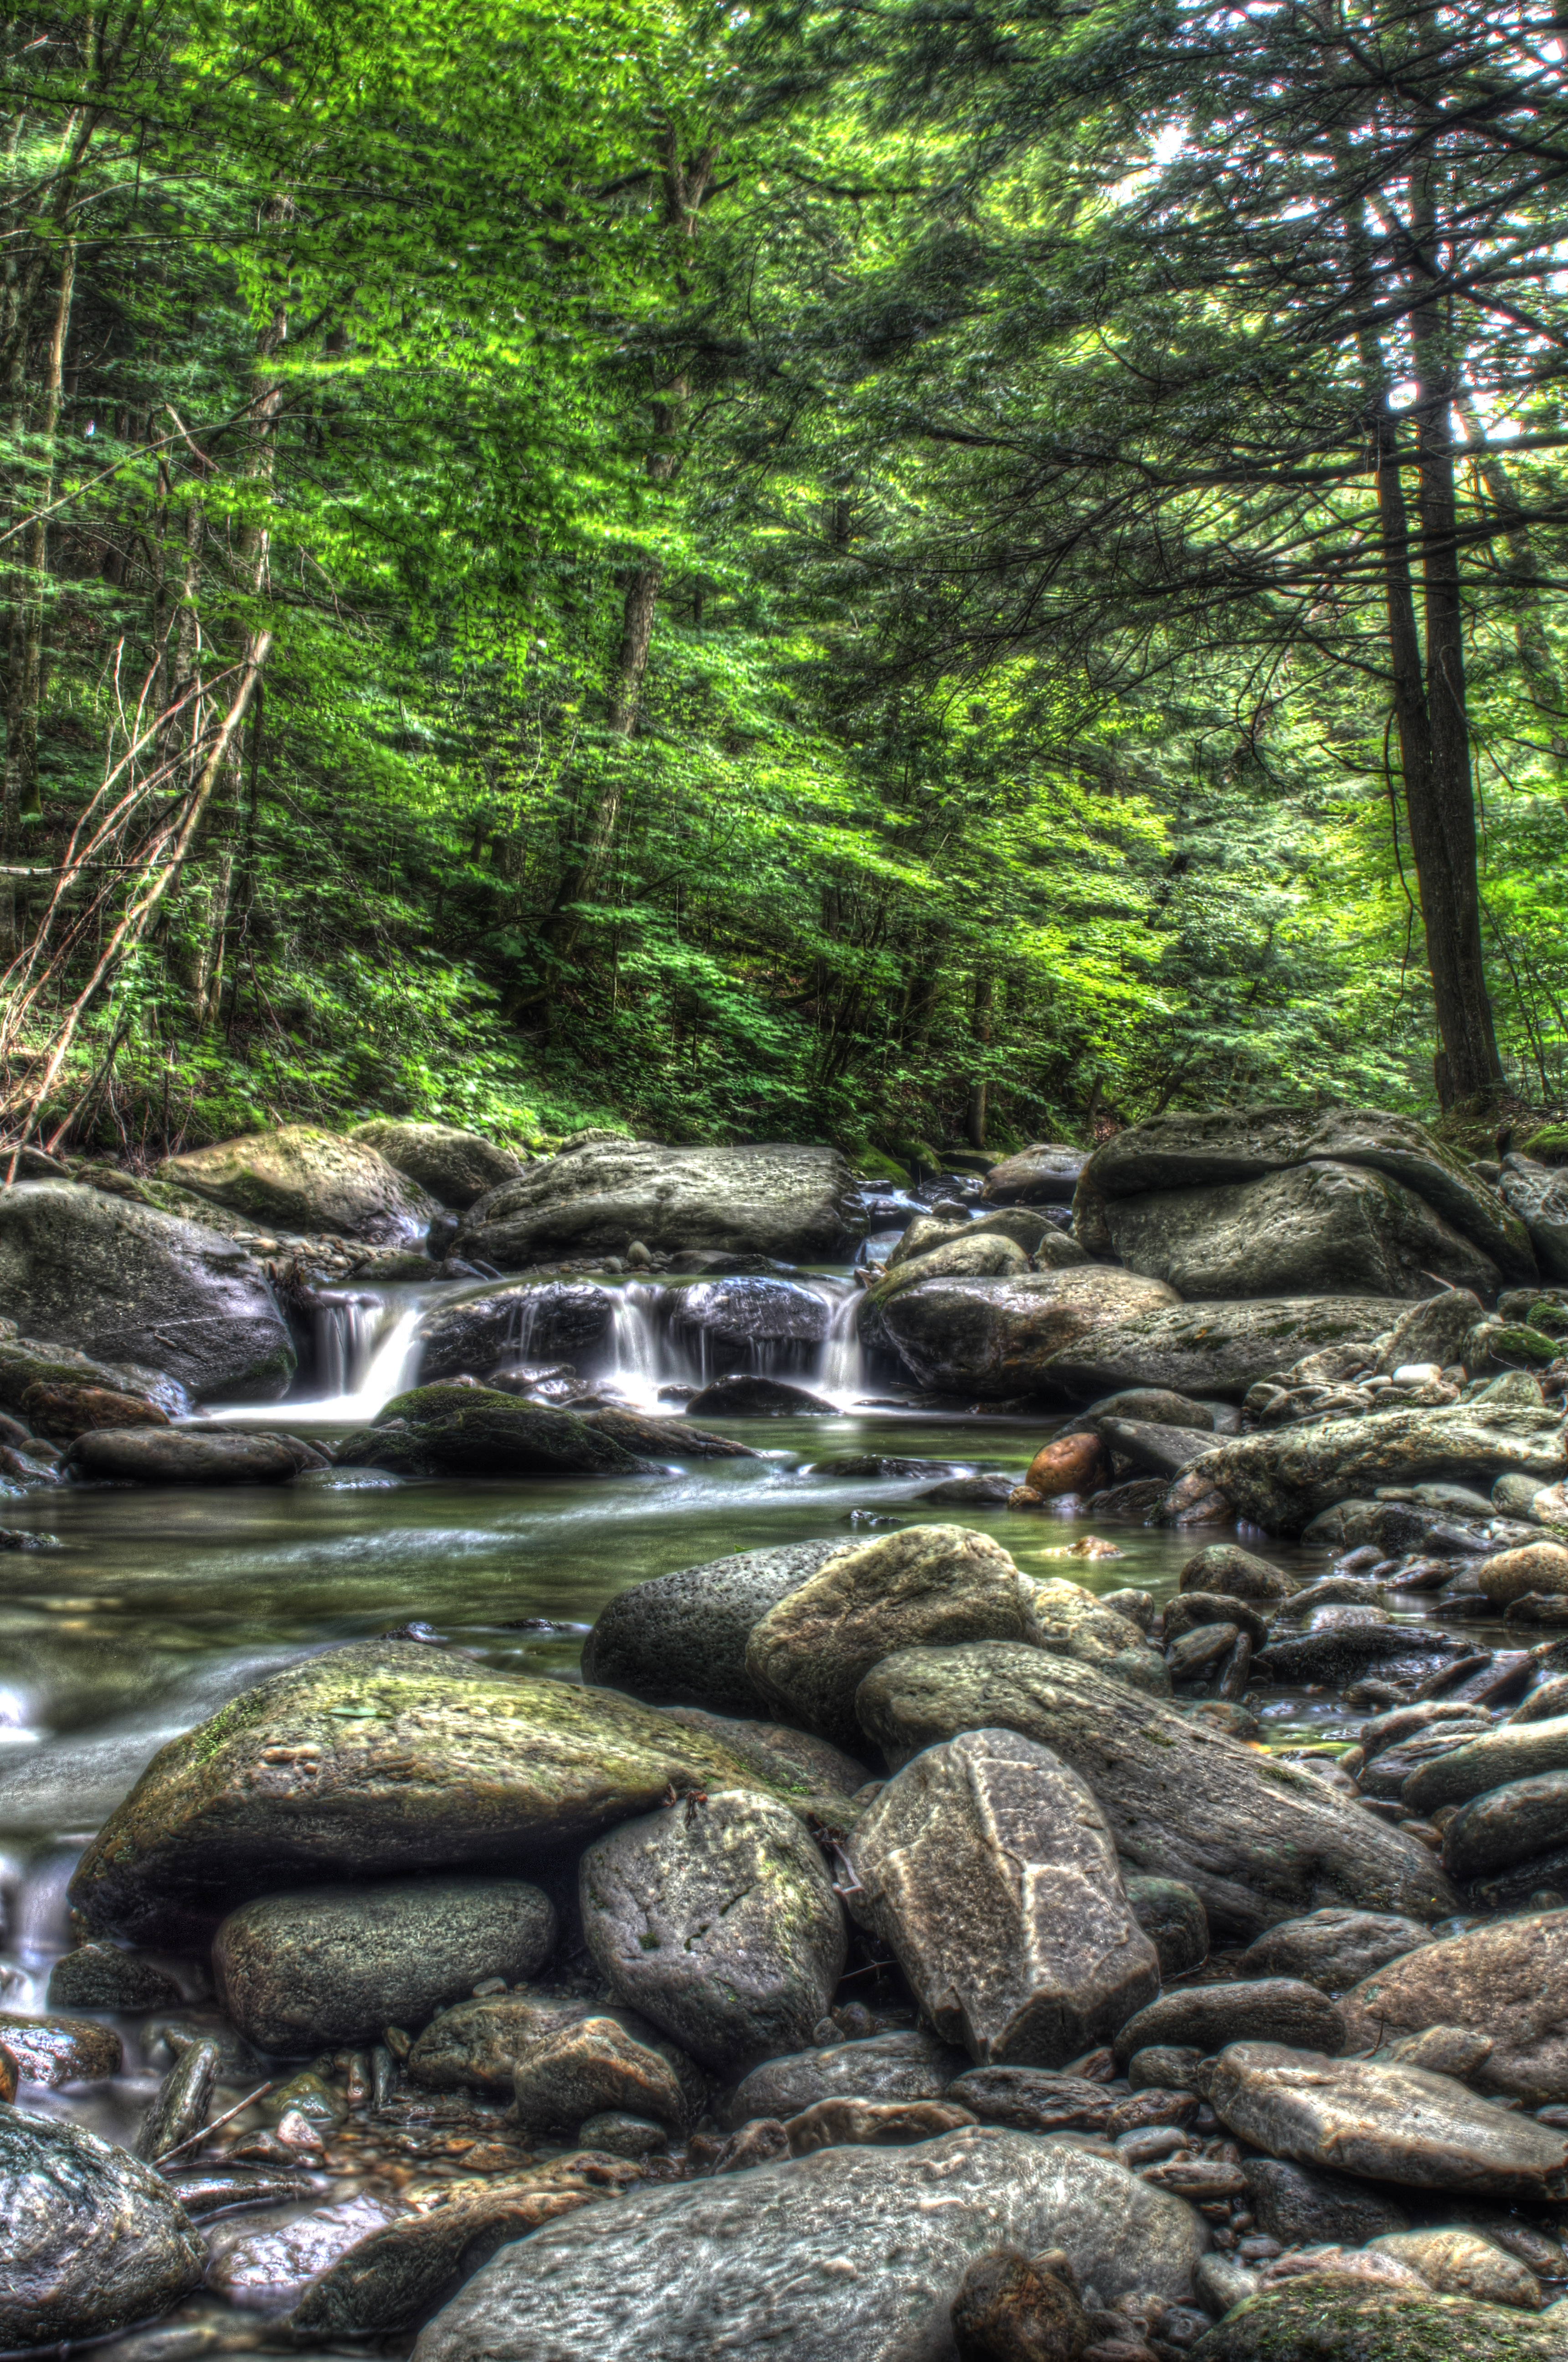
[[[1193,2348],[1193,2362],[1563,2362],[1563,2355],[1568,2331],[1551,2315],[1329,2275],[1249,2296]]]

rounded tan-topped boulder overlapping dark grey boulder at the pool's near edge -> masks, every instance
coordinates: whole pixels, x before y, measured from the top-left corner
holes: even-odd
[[[855,1691],[883,1656],[968,1639],[1032,1639],[1034,1585],[968,1526],[909,1526],[838,1559],[753,1627],[746,1675],[767,1705],[855,1748]]]

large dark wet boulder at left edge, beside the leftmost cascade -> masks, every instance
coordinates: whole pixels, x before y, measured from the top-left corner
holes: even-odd
[[[153,1363],[198,1401],[276,1403],[295,1372],[272,1287],[231,1240],[73,1183],[0,1195],[0,1304],[31,1337]]]

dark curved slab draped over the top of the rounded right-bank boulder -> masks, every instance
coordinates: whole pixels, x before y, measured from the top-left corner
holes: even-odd
[[[1108,1205],[1145,1190],[1261,1181],[1292,1164],[1360,1164],[1422,1198],[1504,1278],[1535,1275],[1518,1216],[1450,1148],[1407,1115],[1381,1108],[1237,1108],[1157,1115],[1096,1148],[1084,1181]]]

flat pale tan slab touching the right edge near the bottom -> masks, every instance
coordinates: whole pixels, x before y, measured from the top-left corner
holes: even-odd
[[[1348,2012],[1346,2029],[1355,2041]],[[1204,2064],[1202,2090],[1240,2140],[1304,2166],[1535,2204],[1568,2194],[1561,2133],[1504,2114],[1445,2074],[1230,2043]]]

